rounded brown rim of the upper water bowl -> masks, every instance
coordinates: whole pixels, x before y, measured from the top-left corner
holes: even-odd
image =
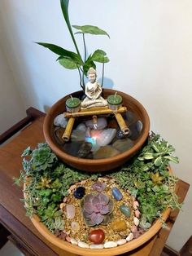
[[[144,130],[142,132],[142,136],[139,139],[139,141],[137,143],[134,144],[133,148],[120,153],[119,155],[115,156],[115,157],[107,157],[107,158],[103,158],[103,159],[85,159],[85,158],[79,158],[79,157],[73,157],[71,155],[69,155],[66,152],[63,152],[58,146],[57,144],[51,139],[50,136],[50,117],[52,116],[52,114],[55,111],[55,108],[57,108],[57,106],[59,104],[63,103],[63,99],[68,97],[69,95],[66,95],[65,97],[63,97],[62,99],[59,99],[59,101],[57,101],[49,110],[49,112],[46,114],[45,117],[45,121],[43,123],[43,132],[44,132],[44,136],[46,139],[46,142],[50,145],[50,148],[55,152],[55,154],[61,158],[67,158],[67,159],[71,159],[72,162],[79,164],[79,165],[89,165],[89,166],[100,166],[100,165],[107,165],[107,164],[111,164],[113,162],[116,161],[120,161],[123,160],[125,157],[128,156],[132,156],[133,153],[135,151],[137,151],[139,148],[142,147],[143,143],[146,141],[148,135],[149,135],[149,130],[150,130],[150,118],[146,112],[146,109],[142,106],[142,104],[137,101],[137,99],[134,99],[132,96],[124,94],[123,92],[119,91],[119,90],[111,90],[111,89],[104,89],[105,91],[114,94],[115,92],[117,92],[117,94],[119,93],[120,95],[123,95],[123,97],[129,97],[129,99],[132,100],[133,104],[137,105],[142,113],[142,116],[144,118],[145,122],[145,127]],[[79,91],[75,91],[70,95],[73,95],[75,93],[81,93],[81,90]]]

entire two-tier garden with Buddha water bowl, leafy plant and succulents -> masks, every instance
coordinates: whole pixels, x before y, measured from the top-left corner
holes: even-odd
[[[175,193],[177,178],[169,167],[170,161],[177,163],[178,159],[172,156],[174,148],[168,142],[154,133],[148,135],[148,115],[145,110],[146,119],[142,118],[139,104],[134,108],[137,100],[129,96],[133,103],[129,105],[126,99],[124,104],[125,94],[116,90],[103,97],[103,74],[100,85],[95,62],[103,64],[104,72],[109,59],[99,49],[87,56],[85,35],[109,36],[95,26],[71,26],[69,1],[60,2],[76,52],[50,43],[38,44],[59,55],[57,60],[64,68],[77,69],[81,97],[68,95],[61,111],[54,113],[50,123],[44,123],[46,132],[52,132],[49,137],[44,130],[44,135],[52,141],[24,150],[23,170],[15,183],[24,183],[28,216],[38,216],[61,241],[85,249],[113,248],[139,239],[157,218],[164,225],[164,210],[181,207]],[[85,58],[81,57],[72,27],[82,35]],[[139,141],[142,143],[136,148]],[[61,161],[62,157],[51,149],[53,144],[54,151],[59,148],[68,154],[65,159],[85,159],[85,164],[101,159],[110,163],[116,156],[124,159],[103,165],[104,170],[99,170],[96,162],[97,172],[90,162],[89,168],[84,165],[77,170],[70,161],[66,161],[68,165]],[[134,147],[137,150],[128,159],[125,152]]]

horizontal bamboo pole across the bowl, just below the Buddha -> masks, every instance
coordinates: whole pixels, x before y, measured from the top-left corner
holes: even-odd
[[[121,107],[119,109],[112,110],[108,107],[102,108],[89,108],[89,109],[81,109],[76,113],[63,113],[64,117],[85,117],[85,116],[94,116],[94,115],[107,115],[107,114],[116,114],[116,113],[124,113],[127,111],[126,107]],[[123,117],[122,117],[123,118]]]

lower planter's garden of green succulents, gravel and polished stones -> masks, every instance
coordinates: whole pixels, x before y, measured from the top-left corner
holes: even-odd
[[[82,248],[112,248],[142,236],[168,207],[179,208],[177,178],[168,170],[174,148],[151,134],[119,169],[89,174],[65,166],[46,143],[22,157],[24,205],[50,232]],[[163,222],[163,220],[162,220]]]

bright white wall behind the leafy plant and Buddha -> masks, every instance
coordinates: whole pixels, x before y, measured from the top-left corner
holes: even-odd
[[[56,56],[33,42],[52,42],[74,51],[59,1],[1,0],[3,49],[24,107],[40,110],[79,90],[76,71],[55,63]],[[192,183],[192,2],[191,0],[81,0],[70,2],[72,24],[94,24],[107,37],[90,36],[89,52],[101,48],[106,86],[137,98],[151,117],[151,130],[168,139],[181,162],[180,179]],[[78,35],[76,38],[80,38]],[[81,43],[81,40],[79,40]],[[100,69],[98,69],[100,70]],[[179,250],[191,235],[191,192],[168,239]]]

